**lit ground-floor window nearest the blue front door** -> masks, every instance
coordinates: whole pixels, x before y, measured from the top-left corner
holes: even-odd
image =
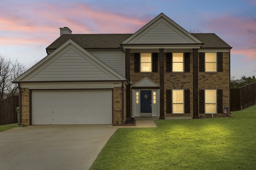
[[[184,90],[172,90],[172,113],[184,113]]]

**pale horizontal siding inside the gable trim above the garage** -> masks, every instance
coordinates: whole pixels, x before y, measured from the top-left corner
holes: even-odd
[[[30,81],[113,80],[100,64],[69,49],[45,66]]]

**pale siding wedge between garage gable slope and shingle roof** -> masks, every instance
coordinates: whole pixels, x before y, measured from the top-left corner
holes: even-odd
[[[125,77],[125,53],[120,50],[87,50],[104,64]]]

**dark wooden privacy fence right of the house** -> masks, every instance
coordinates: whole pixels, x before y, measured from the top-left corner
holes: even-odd
[[[230,89],[230,111],[242,110],[254,105],[256,105],[256,82]]]

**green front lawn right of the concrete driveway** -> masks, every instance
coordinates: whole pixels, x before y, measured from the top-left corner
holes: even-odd
[[[256,169],[256,106],[232,116],[117,129],[90,170]]]

